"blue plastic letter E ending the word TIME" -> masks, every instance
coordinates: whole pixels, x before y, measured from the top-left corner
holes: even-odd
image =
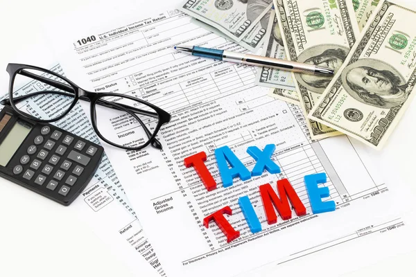
[[[329,188],[318,188],[318,184],[327,182],[327,175],[325,173],[306,175],[304,181],[313,213],[335,211],[335,202],[322,202],[322,197],[329,197]]]

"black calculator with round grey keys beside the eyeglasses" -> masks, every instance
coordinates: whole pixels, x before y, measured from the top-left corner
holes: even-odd
[[[68,206],[92,179],[103,147],[5,106],[0,112],[0,177]]]

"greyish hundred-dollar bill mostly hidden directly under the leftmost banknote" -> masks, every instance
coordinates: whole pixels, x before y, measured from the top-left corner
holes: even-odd
[[[257,22],[254,28],[252,28],[250,32],[248,32],[248,34],[243,39],[241,39],[240,42],[236,42],[231,37],[227,37],[227,35],[225,35],[220,30],[200,21],[199,19],[193,18],[191,21],[193,24],[196,24],[202,28],[205,28],[206,30],[209,30],[210,32],[216,35],[225,37],[226,39],[229,39],[230,41],[243,46],[244,48],[246,48],[248,51],[252,53],[257,53],[257,51],[259,51],[261,46],[263,46],[263,43],[266,39],[266,29],[267,29],[267,23],[270,17],[270,10],[266,12],[266,15],[264,15],[263,18],[259,22]]]

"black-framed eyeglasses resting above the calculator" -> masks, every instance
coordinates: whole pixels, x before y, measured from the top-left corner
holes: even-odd
[[[24,69],[33,69],[33,70],[37,70],[37,71],[42,71],[44,73],[49,73],[51,75],[55,75],[55,76],[61,78],[62,80],[64,80],[65,82],[67,82],[68,84],[70,84],[71,87],[69,87],[67,84],[63,84],[62,82],[58,82],[58,81],[51,80],[51,79],[48,79],[48,78],[43,78],[40,75],[30,73],[29,71],[24,71]],[[138,98],[135,98],[135,97],[132,97],[132,96],[127,96],[127,95],[124,95],[124,94],[121,94],[121,93],[106,93],[106,92],[97,93],[97,92],[93,92],[93,91],[86,91],[85,89],[81,89],[80,87],[78,87],[78,85],[71,82],[71,80],[68,80],[64,76],[62,76],[58,73],[55,73],[53,71],[50,71],[48,69],[42,69],[41,67],[38,67],[38,66],[31,66],[31,65],[27,65],[27,64],[8,64],[6,71],[10,75],[9,99],[2,100],[1,104],[2,105],[10,105],[13,109],[15,109],[17,114],[20,114],[21,116],[24,116],[26,118],[30,118],[30,119],[35,120],[37,122],[51,123],[51,122],[55,122],[55,121],[58,121],[58,120],[64,118],[64,116],[67,116],[67,114],[69,114],[69,111],[71,111],[71,109],[73,109],[73,107],[75,107],[78,100],[85,100],[85,101],[89,101],[91,103],[90,113],[91,113],[92,127],[93,127],[94,131],[96,132],[96,134],[103,141],[105,141],[106,143],[108,143],[110,145],[113,145],[116,148],[122,148],[124,150],[141,150],[143,148],[146,148],[146,146],[148,146],[151,143],[151,145],[154,148],[162,150],[162,144],[155,137],[156,137],[157,133],[159,132],[160,127],[162,127],[162,125],[164,125],[165,123],[168,123],[171,120],[171,114],[169,114],[167,111],[164,111],[163,109],[160,109],[159,107],[156,107],[155,105],[150,104],[149,102],[146,102],[144,100],[140,100]],[[66,91],[67,93],[64,93],[62,91],[37,91],[36,93],[31,93],[31,94],[28,94],[27,96],[19,96],[19,97],[15,98],[15,97],[13,97],[13,85],[15,83],[15,78],[16,78],[17,74],[25,75],[26,77],[31,77],[35,80],[39,80],[39,81],[44,82],[46,84],[49,84],[53,87],[57,87],[58,89],[62,89],[62,91]],[[53,118],[53,119],[49,119],[49,120],[42,120],[40,118],[36,118],[35,116],[32,116],[31,114],[26,114],[26,113],[20,111],[19,109],[17,109],[17,107],[15,105],[15,100],[18,100],[18,101],[24,100],[26,98],[31,98],[31,97],[33,97],[37,94],[42,94],[42,93],[55,93],[55,94],[60,94],[60,95],[64,95],[64,96],[68,96],[68,93],[71,93],[71,97],[74,96],[74,99],[73,99],[73,102],[70,105],[70,107],[67,109],[67,111],[65,111],[63,114],[61,114],[57,118]],[[152,109],[154,109],[156,111],[156,113],[153,113],[151,111],[146,111],[144,109],[137,109],[137,108],[130,107],[130,106],[127,106],[127,105],[118,104],[116,102],[109,102],[109,101],[100,99],[100,98],[104,98],[104,97],[107,97],[107,96],[123,97],[123,98],[128,98],[128,99],[133,100],[133,101],[140,102],[141,104],[146,105],[146,106],[151,107]],[[116,143],[112,143],[112,141],[109,141],[109,140],[105,139],[105,137],[101,134],[101,132],[98,131],[98,127],[97,127],[97,124],[96,124],[96,109],[95,109],[96,105],[103,105],[103,106],[108,107],[110,109],[117,109],[117,110],[125,111],[128,114],[130,114],[131,116],[133,116],[141,124],[141,126],[144,128],[144,130],[146,132],[146,135],[148,136],[148,141],[146,143],[144,143],[143,145],[140,145],[140,146],[135,147],[135,148],[131,148],[131,147],[123,146],[123,145],[118,145]],[[150,130],[146,127],[144,122],[136,114],[142,114],[142,115],[146,115],[146,116],[150,116],[150,117],[158,119],[158,123],[155,127],[155,131],[153,132],[153,134],[150,132]]]

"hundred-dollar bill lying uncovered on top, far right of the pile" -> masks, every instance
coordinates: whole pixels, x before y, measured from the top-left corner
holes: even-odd
[[[381,148],[415,96],[416,12],[379,7],[311,118]]]

